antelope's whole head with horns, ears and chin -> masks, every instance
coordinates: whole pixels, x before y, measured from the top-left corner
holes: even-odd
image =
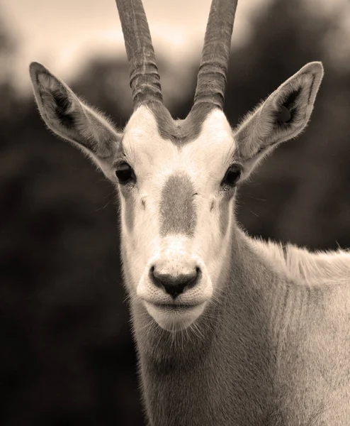
[[[163,104],[142,2],[116,3],[134,106],[123,132],[38,62],[30,77],[47,126],[86,153],[118,190],[133,306],[176,331],[225,288],[237,187],[261,158],[303,131],[323,68],[305,65],[232,129],[222,108],[237,0],[213,0],[193,107],[174,120]]]

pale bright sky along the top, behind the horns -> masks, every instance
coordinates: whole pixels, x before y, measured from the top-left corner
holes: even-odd
[[[269,1],[238,2],[233,43],[249,38],[252,13],[259,13]],[[143,0],[143,4],[156,55],[174,63],[176,72],[182,63],[186,67],[188,58],[199,62],[210,0]],[[348,4],[350,12],[349,0],[305,0],[305,7],[316,13],[332,13],[340,4]],[[29,88],[28,65],[33,60],[69,81],[89,58],[125,55],[115,0],[0,0],[0,8],[18,39],[15,72],[23,88]],[[343,25],[350,28],[350,13]]]

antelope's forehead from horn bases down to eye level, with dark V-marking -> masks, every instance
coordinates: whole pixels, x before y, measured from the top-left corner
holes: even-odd
[[[133,163],[171,173],[196,167],[210,171],[232,162],[235,141],[225,114],[214,109],[196,119],[175,121],[139,107],[125,127],[123,152]],[[166,173],[168,174],[168,173]]]

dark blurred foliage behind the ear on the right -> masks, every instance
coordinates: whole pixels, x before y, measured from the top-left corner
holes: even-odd
[[[314,2],[316,4],[316,2]],[[237,122],[306,62],[325,76],[306,132],[265,161],[240,197],[240,221],[252,234],[311,249],[350,246],[350,73],[325,49],[343,11],[330,16],[304,1],[276,1],[257,18],[254,38],[231,58],[226,112]],[[265,201],[262,201],[265,200]]]

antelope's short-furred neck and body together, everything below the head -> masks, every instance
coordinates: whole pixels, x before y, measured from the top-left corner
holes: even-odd
[[[150,425],[349,425],[350,253],[285,258],[232,231],[225,287],[196,327],[145,333],[132,306]]]

